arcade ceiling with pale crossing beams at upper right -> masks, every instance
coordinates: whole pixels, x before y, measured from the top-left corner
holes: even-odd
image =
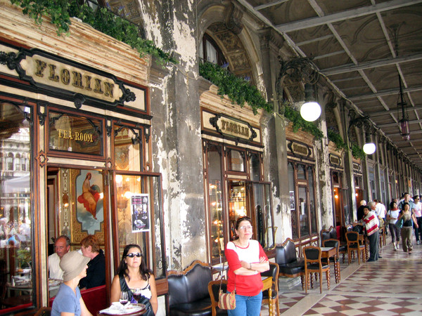
[[[422,0],[238,0],[422,168]],[[399,132],[402,81],[410,140]]]

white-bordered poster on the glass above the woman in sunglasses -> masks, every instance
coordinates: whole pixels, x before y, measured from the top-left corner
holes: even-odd
[[[148,232],[150,229],[149,195],[132,195],[132,232]]]

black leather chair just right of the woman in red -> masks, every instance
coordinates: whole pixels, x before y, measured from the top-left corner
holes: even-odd
[[[305,289],[305,261],[296,256],[296,246],[287,238],[281,246],[276,246],[275,261],[279,265],[279,276],[300,277],[302,289]]]

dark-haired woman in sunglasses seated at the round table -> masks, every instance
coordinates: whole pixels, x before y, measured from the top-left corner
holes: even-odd
[[[117,275],[111,284],[111,301],[118,302],[122,291],[128,292],[129,302],[146,305],[147,310],[143,315],[153,316],[157,312],[155,277],[153,271],[146,266],[141,247],[137,244],[128,244],[124,247]],[[137,301],[134,294],[139,296]]]

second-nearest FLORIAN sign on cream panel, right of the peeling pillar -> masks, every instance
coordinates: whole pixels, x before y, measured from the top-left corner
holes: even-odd
[[[236,138],[236,140],[260,142],[259,129],[255,129],[245,121],[226,117],[224,114],[203,111],[203,127],[217,131],[221,135]]]

